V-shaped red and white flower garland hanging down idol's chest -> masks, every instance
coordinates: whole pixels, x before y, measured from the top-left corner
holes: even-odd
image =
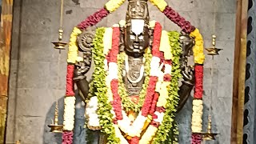
[[[151,85],[149,84],[149,87],[146,90],[146,98],[144,101],[144,104],[142,106],[142,111],[138,114],[138,117],[134,120],[134,123],[130,126],[130,120],[129,118],[126,116],[126,113],[122,110],[122,106],[121,106],[121,98],[120,95],[118,94],[118,76],[115,76],[118,73],[118,69],[117,69],[117,64],[115,64],[118,60],[118,51],[117,51],[117,45],[115,43],[118,43],[118,41],[116,41],[117,34],[115,34],[115,29],[113,28],[113,38],[112,38],[112,49],[110,50],[109,53],[109,57],[107,57],[108,59],[108,68],[106,70],[109,70],[107,72],[107,74],[109,74],[106,78],[110,78],[110,80],[108,82],[110,82],[110,87],[112,94],[110,94],[110,97],[113,97],[113,100],[111,102],[113,110],[114,110],[114,127],[119,127],[124,133],[128,134],[129,136],[127,137],[130,143],[149,143],[151,141],[151,139],[154,137],[154,134],[158,131],[158,126],[160,126],[160,124],[163,121],[163,117],[164,117],[164,112],[165,110],[165,106],[166,104],[163,104],[162,107],[158,107],[157,102],[161,101],[159,100],[159,95],[158,93],[155,93],[154,90],[156,90],[156,85],[158,82],[158,79],[162,79],[162,85],[160,87],[166,87],[168,86],[168,84],[170,84],[170,72],[171,72],[171,68],[170,68],[170,62],[164,62],[164,65],[166,66],[166,72],[165,73],[160,73],[162,74],[162,76],[159,75],[159,70],[162,70],[162,66],[159,66],[159,63],[161,61],[161,58],[158,58],[156,56],[161,56],[161,52],[159,51],[159,47],[157,48],[157,46],[160,46],[160,38],[161,37],[161,26],[156,23],[155,25],[155,30],[154,33],[156,35],[158,35],[158,38],[154,38],[154,46],[152,48],[152,61],[150,64],[150,67],[154,67],[154,69],[150,69],[150,79],[152,83]],[[160,32],[160,34],[159,34]],[[178,42],[178,39],[177,39]],[[157,46],[156,46],[157,45]],[[179,45],[178,45],[179,46]],[[116,57],[116,58],[114,58]],[[120,57],[119,57],[120,58]],[[118,62],[118,63],[122,63],[122,62]],[[158,66],[159,69],[155,70],[155,67]],[[167,72],[169,70],[169,72]],[[166,82],[168,83],[166,85]],[[107,83],[107,82],[106,82]],[[168,89],[166,88],[162,88],[159,90],[160,92],[160,96],[161,94],[166,94],[165,92],[162,91],[168,91]],[[177,89],[178,90],[178,89]],[[167,92],[168,94],[168,92]],[[178,94],[178,91],[177,91]],[[168,97],[167,97],[168,98]],[[163,98],[163,100],[166,100],[165,98]],[[108,100],[110,101],[110,100]],[[165,102],[160,102],[160,103],[165,103]],[[178,103],[178,102],[176,102]],[[111,111],[111,110],[110,110]],[[173,110],[174,111],[174,110]],[[153,113],[153,114],[152,114]],[[153,115],[153,119],[151,119],[150,117],[148,117],[148,114],[152,114]],[[149,119],[149,121],[148,121]],[[151,119],[151,120],[150,120]],[[140,139],[140,133],[142,133],[142,130],[144,127],[147,126],[146,123],[150,123],[150,129],[147,129],[145,132],[145,135],[143,135],[142,139]],[[154,126],[154,127],[152,127]],[[116,136],[119,138],[120,141],[126,143],[126,139],[123,138],[121,132],[117,132],[118,130],[115,129],[115,133]]]

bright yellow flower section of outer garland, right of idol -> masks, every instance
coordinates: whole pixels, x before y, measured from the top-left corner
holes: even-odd
[[[202,35],[198,29],[195,29],[190,33],[190,37],[194,38],[195,45],[193,48],[194,52],[194,63],[203,64],[205,60],[205,54],[203,54],[203,40]]]

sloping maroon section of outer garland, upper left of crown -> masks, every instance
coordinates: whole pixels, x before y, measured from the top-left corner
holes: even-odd
[[[86,18],[86,20],[79,23],[78,28],[80,30],[86,30],[87,27],[96,25],[102,20],[102,18],[105,18],[108,14],[109,12],[106,9],[102,8],[96,13],[90,15],[88,18]]]

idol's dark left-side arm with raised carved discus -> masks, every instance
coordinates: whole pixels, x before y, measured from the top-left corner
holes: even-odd
[[[89,93],[89,82],[86,80],[86,73],[90,70],[94,31],[85,30],[78,36],[79,52],[82,54],[81,61],[76,62],[74,69],[74,82],[80,90],[80,95],[85,101]]]

